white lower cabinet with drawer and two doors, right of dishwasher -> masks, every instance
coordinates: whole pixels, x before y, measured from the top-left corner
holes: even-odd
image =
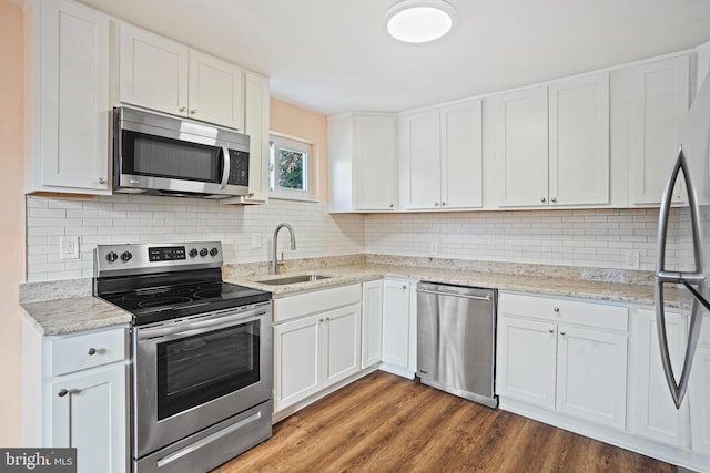
[[[623,307],[501,294],[496,392],[623,429],[626,327]]]

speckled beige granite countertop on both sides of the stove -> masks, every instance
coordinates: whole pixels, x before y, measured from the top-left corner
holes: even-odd
[[[371,261],[372,259],[372,261]],[[406,263],[406,264],[403,264]],[[274,298],[327,287],[358,284],[381,277],[400,277],[462,286],[497,288],[544,296],[577,297],[611,302],[652,305],[652,278],[647,271],[516,265],[392,256],[331,257],[287,261],[284,274],[267,275],[268,264],[226,265],[225,281],[271,291]],[[267,285],[257,282],[294,275],[329,276],[312,282]],[[21,307],[43,336],[55,336],[131,322],[131,313],[91,297],[91,280],[27,284]],[[669,307],[678,307],[668,291]],[[43,300],[52,299],[52,300]]]

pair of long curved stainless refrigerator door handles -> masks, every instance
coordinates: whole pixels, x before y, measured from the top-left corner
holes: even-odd
[[[668,224],[670,215],[670,206],[672,199],[673,187],[678,181],[678,175],[682,171],[686,179],[686,187],[688,191],[688,204],[690,207],[690,219],[692,226],[692,246],[693,246],[693,259],[696,268],[693,273],[678,273],[666,270],[666,244],[668,240]],[[688,161],[683,153],[682,147],[678,151],[678,158],[673,164],[673,168],[670,173],[666,189],[661,198],[661,208],[658,217],[658,253],[656,265],[656,326],[658,331],[658,342],[661,351],[661,362],[663,364],[663,372],[666,374],[666,381],[670,390],[676,408],[680,409],[686,391],[688,390],[688,381],[690,378],[690,369],[692,368],[692,360],[698,347],[698,340],[700,339],[700,326],[702,322],[702,311],[700,310],[700,304],[704,307],[710,306],[704,298],[706,295],[706,277],[703,270],[702,259],[702,236],[700,233],[700,209],[698,207],[698,200],[696,189],[692,186],[690,174],[688,173]],[[683,368],[680,374],[680,380],[676,381],[673,368],[670,361],[670,352],[668,349],[668,333],[666,331],[666,311],[663,300],[663,284],[682,284],[688,288],[691,285],[698,286],[698,289],[691,289],[691,294],[694,299],[692,301],[692,309],[690,312],[690,330],[688,333],[688,343],[686,345],[686,356],[683,359]]]

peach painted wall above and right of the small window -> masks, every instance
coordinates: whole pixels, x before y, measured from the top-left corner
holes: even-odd
[[[314,197],[328,199],[328,121],[327,116],[272,99],[270,104],[270,130],[285,135],[307,140],[312,145],[317,168],[311,178]]]

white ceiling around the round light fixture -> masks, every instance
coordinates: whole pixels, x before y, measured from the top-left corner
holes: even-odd
[[[14,0],[21,1],[21,0]],[[271,76],[313,111],[402,111],[710,41],[709,0],[449,0],[449,35],[384,31],[397,0],[82,0]]]

